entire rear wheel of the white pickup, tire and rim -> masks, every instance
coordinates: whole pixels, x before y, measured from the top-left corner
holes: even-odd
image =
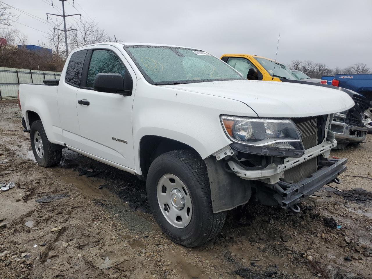
[[[60,163],[62,150],[52,150],[41,120],[32,122],[31,147],[36,162],[43,167],[53,167]]]

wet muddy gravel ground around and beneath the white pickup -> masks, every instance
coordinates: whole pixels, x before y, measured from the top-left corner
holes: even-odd
[[[343,192],[325,186],[300,213],[249,203],[202,247],[172,243],[145,183],[63,150],[33,160],[15,101],[0,102],[0,278],[372,278],[372,137],[348,158]]]

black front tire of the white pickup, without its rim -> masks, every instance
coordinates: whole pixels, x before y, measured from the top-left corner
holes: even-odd
[[[165,174],[179,177],[187,187],[192,203],[192,217],[184,228],[171,225],[158,204],[157,185]],[[221,231],[226,212],[213,213],[208,173],[202,158],[194,151],[174,150],[155,158],[148,170],[147,195],[155,221],[174,242],[186,247],[200,246]]]

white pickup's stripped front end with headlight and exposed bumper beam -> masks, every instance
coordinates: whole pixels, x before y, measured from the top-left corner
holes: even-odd
[[[244,204],[251,196],[264,205],[299,211],[299,202],[327,183],[339,183],[337,176],[346,170],[347,159],[327,159],[337,145],[330,131],[333,115],[262,119],[263,125],[221,119],[233,143],[205,160],[214,212]],[[246,127],[250,140],[244,142],[239,137]],[[259,138],[257,128],[265,129],[266,138]]]

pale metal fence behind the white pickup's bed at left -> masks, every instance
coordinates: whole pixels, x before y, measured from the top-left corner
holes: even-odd
[[[58,79],[60,76],[61,72],[0,67],[0,99],[16,99],[21,83],[42,83],[44,79]]]

